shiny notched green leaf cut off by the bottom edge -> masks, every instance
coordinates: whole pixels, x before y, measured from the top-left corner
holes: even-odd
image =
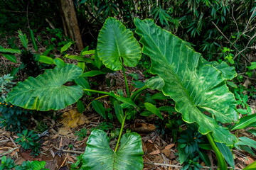
[[[122,135],[121,145],[116,153],[110,148],[107,133],[93,130],[82,156],[83,170],[142,170],[142,140],[135,133]]]

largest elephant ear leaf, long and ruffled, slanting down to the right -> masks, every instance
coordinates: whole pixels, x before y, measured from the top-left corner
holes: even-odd
[[[238,121],[234,95],[218,69],[201,61],[183,40],[154,24],[135,20],[143,52],[151,58],[151,73],[164,80],[162,92],[176,102],[176,111],[187,123],[198,123],[203,135],[212,133],[215,141],[233,145],[238,139],[228,128],[218,125]],[[215,120],[201,111],[208,111]]]

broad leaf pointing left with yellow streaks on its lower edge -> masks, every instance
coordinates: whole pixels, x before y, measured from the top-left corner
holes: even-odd
[[[81,86],[65,86],[68,81],[78,79],[82,69],[74,64],[46,69],[38,77],[28,77],[9,92],[6,102],[22,108],[49,111],[63,109],[82,97]]]

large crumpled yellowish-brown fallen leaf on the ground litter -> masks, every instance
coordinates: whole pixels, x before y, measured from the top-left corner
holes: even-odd
[[[62,117],[60,123],[69,128],[76,128],[78,125],[89,123],[85,115],[79,113],[77,109],[71,109],[70,111],[63,113]]]

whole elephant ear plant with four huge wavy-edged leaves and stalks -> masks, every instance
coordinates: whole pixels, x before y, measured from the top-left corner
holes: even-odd
[[[134,101],[144,89],[158,89],[164,96],[175,101],[175,111],[181,113],[186,123],[198,125],[198,131],[206,135],[218,157],[218,166],[227,169],[223,154],[215,142],[225,146],[233,146],[238,142],[228,128],[218,125],[218,122],[224,124],[238,121],[235,97],[226,85],[227,80],[236,77],[235,68],[225,62],[207,62],[187,42],[156,26],[152,20],[141,21],[137,18],[134,23],[137,26],[136,33],[141,37],[139,42],[143,45],[142,49],[132,31],[114,18],[105,21],[97,40],[97,56],[105,67],[114,71],[122,70],[127,97],[114,94],[114,91],[90,89],[89,83],[83,78],[86,73],[82,73],[80,67],[59,64],[36,78],[29,77],[19,82],[9,92],[6,101],[23,108],[49,111],[63,109],[77,102],[83,92],[104,94],[100,98],[114,98],[114,111],[122,124],[117,145],[112,150],[107,133],[93,130],[82,156],[82,169],[139,170],[143,168],[142,141],[135,132],[122,135],[124,122],[129,111],[138,108]],[[156,77],[149,79],[145,86],[131,94],[124,66],[135,67],[142,52],[151,58],[150,72],[156,74]],[[76,84],[65,85],[69,81],[75,81]],[[150,103],[144,106],[163,119],[159,108]],[[103,110],[99,109],[98,113],[106,116]]]

